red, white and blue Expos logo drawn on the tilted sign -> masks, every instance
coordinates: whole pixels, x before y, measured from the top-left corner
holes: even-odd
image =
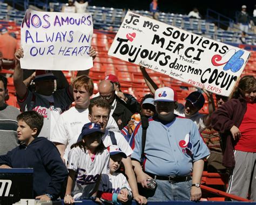
[[[245,63],[245,60],[241,58],[241,56],[244,53],[245,52],[242,50],[239,50],[237,52],[235,52],[235,50],[230,50],[224,56],[220,56],[219,54],[216,54],[212,57],[212,65],[221,66],[226,64],[223,68],[224,71],[231,70],[234,73],[238,72],[241,69],[242,65],[244,65]],[[231,58],[229,58],[226,61],[225,57],[228,57],[231,54],[232,54]]]

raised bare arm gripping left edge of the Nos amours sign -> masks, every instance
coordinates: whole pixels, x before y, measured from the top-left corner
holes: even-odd
[[[23,99],[25,97],[27,87],[23,82],[23,70],[21,69],[21,64],[19,61],[19,59],[23,58],[22,48],[16,51],[15,58],[17,60],[17,65],[14,70],[14,86],[18,97]]]

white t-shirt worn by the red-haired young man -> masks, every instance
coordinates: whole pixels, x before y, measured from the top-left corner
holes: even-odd
[[[84,124],[90,122],[88,115],[88,108],[77,109],[76,107],[71,107],[58,118],[50,140],[66,145],[63,156],[65,161],[68,160],[70,147],[77,142]],[[107,128],[118,129],[116,121],[114,121],[112,117],[110,117],[109,122],[107,123]]]

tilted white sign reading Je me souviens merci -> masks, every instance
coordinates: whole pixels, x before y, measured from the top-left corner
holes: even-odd
[[[250,52],[128,11],[110,56],[229,95]]]

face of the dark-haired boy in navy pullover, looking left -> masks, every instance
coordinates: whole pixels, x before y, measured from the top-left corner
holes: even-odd
[[[23,120],[18,121],[18,128],[17,128],[18,140],[23,142],[30,142],[34,139],[33,135],[35,135],[36,132],[37,131],[35,129],[31,129]]]

